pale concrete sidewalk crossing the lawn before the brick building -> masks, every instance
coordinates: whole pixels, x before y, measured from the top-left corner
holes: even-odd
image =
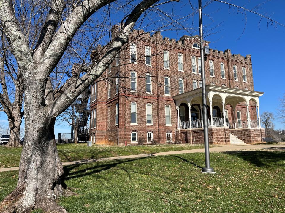
[[[231,145],[231,146],[218,146],[210,148],[210,152],[226,152],[226,151],[247,151],[254,149],[264,149],[264,148],[284,148],[285,145]],[[152,156],[161,156],[161,155],[172,155],[172,154],[187,154],[187,153],[200,153],[204,152],[203,149],[188,149],[181,151],[168,151],[168,152],[158,152],[152,154],[137,154],[137,155],[126,155],[126,156],[118,156],[118,157],[107,157],[107,158],[97,158],[90,160],[78,160],[78,161],[68,161],[62,162],[63,166],[66,165],[74,165],[74,164],[84,164],[84,163],[92,163],[92,162],[100,162],[100,161],[110,161],[110,160],[120,160],[120,159],[129,159],[129,158],[144,158],[144,157],[152,157]],[[1,168],[0,172],[19,170],[19,167],[10,167],[10,168]]]

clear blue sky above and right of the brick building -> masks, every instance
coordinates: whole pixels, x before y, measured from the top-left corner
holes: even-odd
[[[175,3],[173,14],[185,16],[189,13],[191,8],[187,2],[181,0],[179,3]],[[191,1],[191,4],[197,8],[197,2],[196,0]],[[252,9],[263,1],[233,0],[230,2],[240,6],[246,4],[246,8]],[[285,24],[284,8],[285,1],[272,0],[262,4],[258,12],[261,14],[267,13],[274,20]],[[266,19],[260,21],[259,16],[249,12],[246,13],[245,19],[245,16],[238,13],[237,9],[229,9],[228,5],[220,2],[209,4],[203,9],[203,13],[207,14],[203,16],[205,31],[212,29],[205,33],[205,39],[211,41],[211,49],[220,51],[230,49],[232,54],[241,54],[243,56],[251,54],[254,88],[256,91],[265,93],[259,99],[260,113],[269,111],[276,114],[279,98],[285,93],[285,27],[279,25],[277,25],[277,28],[272,25],[268,26]],[[244,30],[245,22],[246,28]],[[194,17],[193,23],[194,27],[198,28],[198,15]],[[182,24],[190,26],[192,19],[188,19]],[[163,36],[177,40],[184,34],[189,33],[183,32],[183,30],[162,32]],[[193,33],[193,35],[198,35],[198,33]],[[0,112],[0,121],[8,124],[4,112]],[[277,129],[285,128],[285,124],[282,124],[277,118],[274,123]],[[56,126],[56,138],[59,132],[70,132],[70,130],[69,126]]]

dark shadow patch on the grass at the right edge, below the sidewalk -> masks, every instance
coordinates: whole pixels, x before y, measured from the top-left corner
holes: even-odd
[[[284,166],[285,152],[278,151],[227,151],[226,154],[237,156],[257,167]]]

